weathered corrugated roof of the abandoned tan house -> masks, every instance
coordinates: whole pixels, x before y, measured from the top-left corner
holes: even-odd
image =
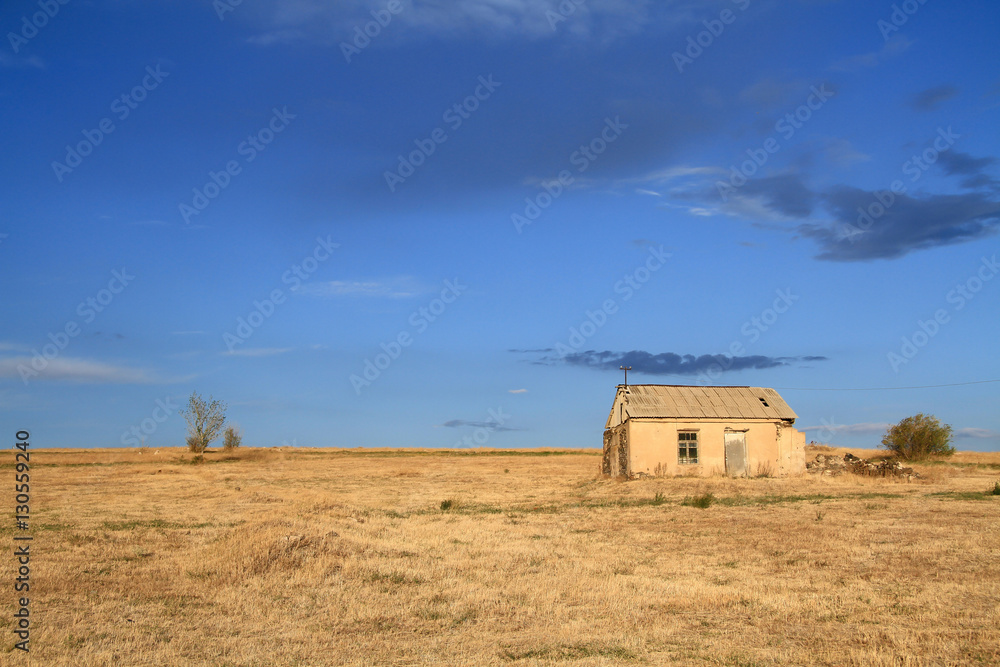
[[[629,417],[663,419],[796,419],[798,417],[778,392],[767,387],[630,384],[625,412]]]

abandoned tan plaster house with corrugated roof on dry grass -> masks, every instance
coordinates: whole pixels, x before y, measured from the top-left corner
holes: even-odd
[[[618,385],[604,427],[605,475],[798,475],[805,433],[773,389]]]

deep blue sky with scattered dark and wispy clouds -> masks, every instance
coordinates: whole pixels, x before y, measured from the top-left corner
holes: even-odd
[[[624,363],[776,387],[807,439],[1000,449],[995,3],[0,28],[0,422],[37,446],[181,445],[198,391],[251,445],[596,447]]]

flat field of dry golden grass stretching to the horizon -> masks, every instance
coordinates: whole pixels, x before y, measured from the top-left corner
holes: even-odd
[[[912,482],[624,482],[599,462],[34,451],[31,652],[11,649],[7,556],[0,662],[1000,663],[1000,454]]]

